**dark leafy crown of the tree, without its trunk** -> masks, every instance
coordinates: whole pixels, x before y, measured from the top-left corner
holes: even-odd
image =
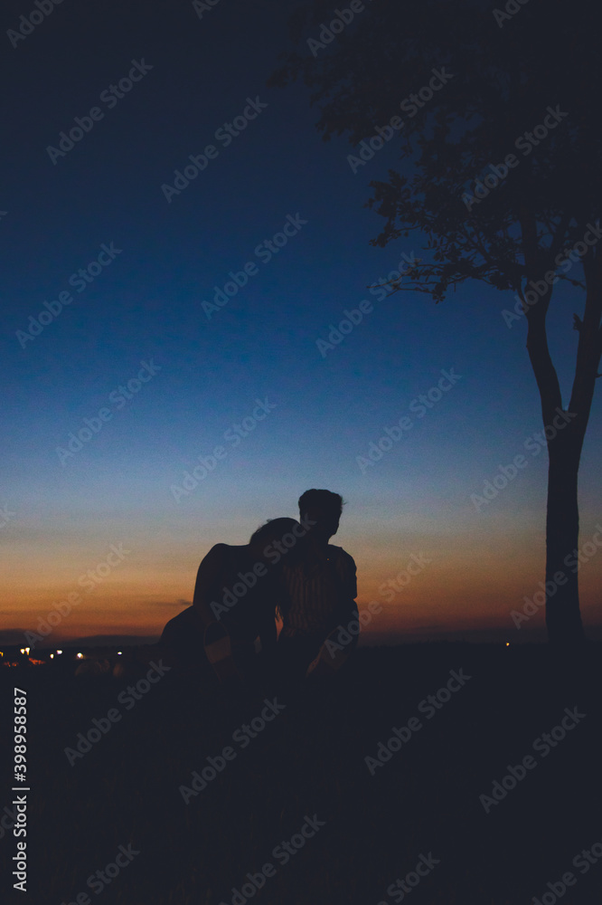
[[[344,134],[357,146],[401,116],[393,139],[400,143],[400,168],[388,182],[371,183],[368,204],[386,219],[373,244],[423,233],[431,254],[405,288],[437,301],[467,279],[520,293],[600,215],[595,9],[558,0],[507,5],[517,12],[502,7],[494,14],[496,7],[475,0],[372,0],[313,56],[304,52],[303,35],[317,36],[333,18],[332,6],[316,0],[297,11],[296,49],[282,55],[268,82],[284,86],[303,78],[325,140]],[[400,103],[442,67],[453,78],[416,115],[404,116]],[[517,150],[515,141],[532,133],[549,107],[568,115],[537,144],[524,139],[528,154]],[[467,209],[463,195],[474,196],[476,180],[511,153],[518,166]],[[526,261],[525,239],[537,246],[536,273]],[[582,285],[574,274],[559,279]]]

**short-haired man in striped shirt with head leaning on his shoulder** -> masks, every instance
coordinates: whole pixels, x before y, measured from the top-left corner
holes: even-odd
[[[340,624],[357,619],[357,581],[353,557],[329,544],[339,528],[343,498],[324,490],[306,491],[299,498],[301,522],[308,524],[304,555],[284,563],[287,596],[280,604],[283,626],[278,638],[278,661],[287,678],[306,672],[333,672],[357,643],[328,643]]]

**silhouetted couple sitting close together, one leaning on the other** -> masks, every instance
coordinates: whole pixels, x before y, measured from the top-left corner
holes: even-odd
[[[193,605],[165,625],[166,658],[211,666],[221,681],[272,674],[298,681],[335,672],[357,640],[342,645],[332,637],[357,619],[355,563],[328,542],[342,510],[338,493],[306,491],[300,522],[271,519],[248,544],[212,547],[199,567]]]

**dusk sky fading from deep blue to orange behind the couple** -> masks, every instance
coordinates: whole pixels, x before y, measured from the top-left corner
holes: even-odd
[[[5,5],[5,32],[30,6]],[[542,428],[525,324],[509,329],[501,312],[512,294],[481,283],[437,306],[419,293],[371,295],[402,253],[420,256],[418,238],[369,244],[384,224],[362,206],[369,182],[386,177],[399,148],[391,142],[353,174],[352,148],[322,141],[303,86],[265,87],[295,6],[220,0],[199,18],[179,0],[66,0],[16,47],[5,36],[5,643],[76,590],[81,603],[53,641],[160,633],[192,600],[214,543],[245,543],[265,519],[296,516],[309,487],[347,501],[334,542],[355,558],[360,606],[383,604],[366,641],[497,629],[518,641],[527,631],[509,613],[543,578],[547,452],[526,452],[527,467],[479,511],[470,499]],[[102,92],[143,60],[152,69],[109,109]],[[224,147],[216,129],[258,97],[267,108]],[[93,107],[104,117],[52,163],[48,146]],[[168,203],[161,186],[209,144],[218,156]],[[260,260],[256,249],[289,214],[306,224]],[[121,251],[76,291],[71,274],[103,243]],[[247,262],[257,271],[209,319],[203,300]],[[17,332],[30,315],[70,290],[71,304],[23,348]],[[554,295],[550,346],[567,405],[583,300],[566,284]],[[323,357],[316,340],[363,299],[372,313]],[[155,375],[119,402],[141,362]],[[452,370],[456,384],[419,417],[412,401]],[[274,406],[265,419],[236,446],[224,440],[258,399]],[[103,408],[98,433],[61,462],[57,447]],[[600,414],[598,395],[580,472],[581,543],[602,519]],[[404,415],[409,430],[362,471],[357,457]],[[225,457],[176,500],[173,486],[219,445]],[[127,555],[82,591],[80,576],[111,545]],[[381,586],[412,555],[430,561],[386,600]],[[595,555],[581,572],[587,626],[602,622],[601,577]],[[542,612],[531,627],[541,631]]]

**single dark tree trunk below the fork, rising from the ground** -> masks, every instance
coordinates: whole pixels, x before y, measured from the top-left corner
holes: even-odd
[[[560,420],[561,417],[557,423]],[[548,442],[546,626],[550,643],[563,649],[576,648],[584,641],[579,613],[577,556],[580,446],[575,427],[568,423]]]

